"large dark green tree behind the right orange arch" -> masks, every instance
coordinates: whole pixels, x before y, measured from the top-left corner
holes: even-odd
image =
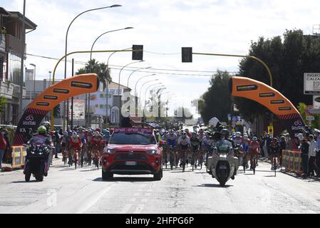
[[[301,30],[286,31],[271,39],[260,37],[252,42],[249,55],[262,59],[272,71],[273,87],[297,106],[312,103],[312,97],[304,95],[304,73],[320,71],[320,38],[306,36]],[[244,58],[239,63],[239,75],[253,78],[269,85],[269,76],[261,63]],[[240,113],[247,120],[269,110],[259,103],[245,98],[234,98]]]

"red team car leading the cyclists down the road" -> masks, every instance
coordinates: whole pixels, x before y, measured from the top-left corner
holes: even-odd
[[[149,128],[115,128],[103,150],[102,179],[118,175],[153,175],[162,178],[162,150]]]

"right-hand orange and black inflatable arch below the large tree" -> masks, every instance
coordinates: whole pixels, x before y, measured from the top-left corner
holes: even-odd
[[[304,120],[284,95],[266,84],[251,78],[232,77],[229,91],[235,97],[247,98],[264,105],[282,120],[291,138],[304,129]]]

